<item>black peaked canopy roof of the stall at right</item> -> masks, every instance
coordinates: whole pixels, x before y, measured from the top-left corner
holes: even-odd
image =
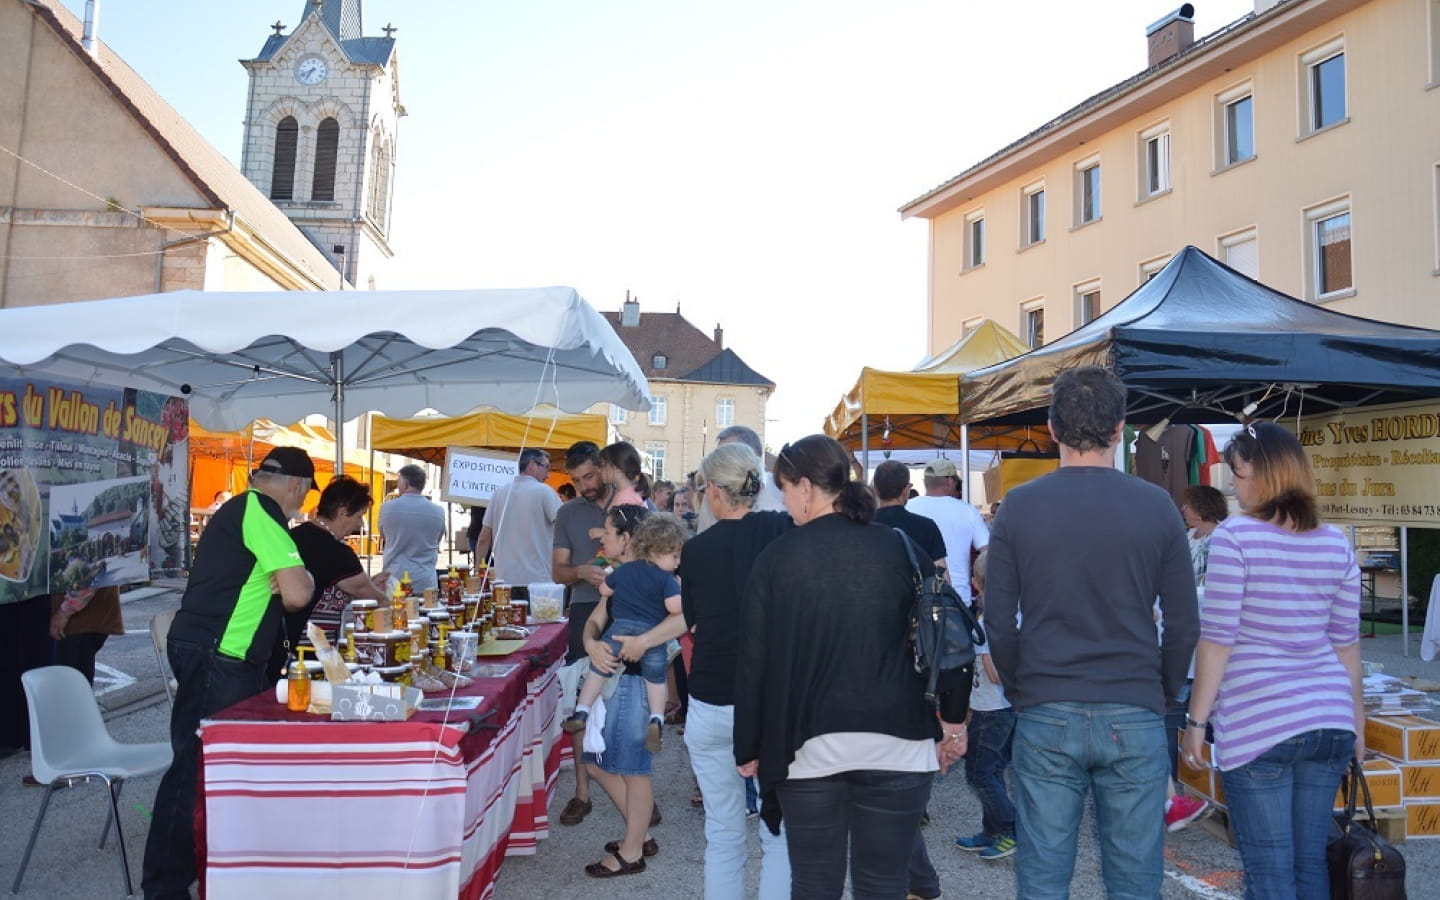
[[[1135,423],[1274,419],[1440,396],[1440,331],[1308,304],[1187,246],[1092,323],[968,373],[960,418],[1043,423],[1076,366],[1112,369]]]

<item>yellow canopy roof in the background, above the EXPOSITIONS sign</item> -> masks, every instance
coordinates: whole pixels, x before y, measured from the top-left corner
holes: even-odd
[[[442,465],[445,448],[480,446],[520,452],[537,446],[563,454],[576,441],[605,446],[609,420],[593,413],[566,415],[554,408],[536,409],[531,415],[507,415],[480,409],[464,416],[420,416],[416,419],[370,419],[370,446],[383,454],[399,454]],[[559,465],[554,468],[559,469]]]

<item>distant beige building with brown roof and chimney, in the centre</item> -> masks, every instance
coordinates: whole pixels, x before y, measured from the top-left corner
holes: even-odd
[[[763,445],[765,405],[775,382],[724,346],[720,325],[707,336],[678,307],[641,312],[629,295],[619,312],[602,314],[645,372],[651,408],[634,412],[600,405],[590,412],[609,413],[612,433],[649,456],[655,478],[681,481],[732,425],[753,428]]]

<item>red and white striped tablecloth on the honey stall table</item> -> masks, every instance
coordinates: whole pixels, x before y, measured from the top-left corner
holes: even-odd
[[[274,697],[204,721],[207,900],[491,897],[504,857],[549,835],[563,654],[563,626],[537,634],[500,660],[520,664],[508,678],[465,691],[495,729],[297,720]]]

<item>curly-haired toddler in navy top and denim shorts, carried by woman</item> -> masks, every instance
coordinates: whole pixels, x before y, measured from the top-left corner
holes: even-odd
[[[609,603],[611,625],[602,639],[619,654],[616,636],[641,635],[660,625],[665,618],[680,613],[680,582],[675,569],[680,567],[680,547],[688,531],[678,518],[668,513],[635,516],[638,507],[613,507],[605,517],[605,536],[600,547],[605,556],[624,564],[605,576],[600,598]],[[638,524],[634,524],[636,520]],[[634,530],[628,536],[626,526]],[[639,660],[641,675],[645,678],[645,697],[649,703],[649,726],[645,733],[645,749],[660,750],[661,726],[665,721],[665,668],[670,658],[665,647],[652,647]],[[590,677],[580,688],[575,714],[560,727],[569,733],[585,730],[590,706],[600,696],[608,672],[590,665]]]

